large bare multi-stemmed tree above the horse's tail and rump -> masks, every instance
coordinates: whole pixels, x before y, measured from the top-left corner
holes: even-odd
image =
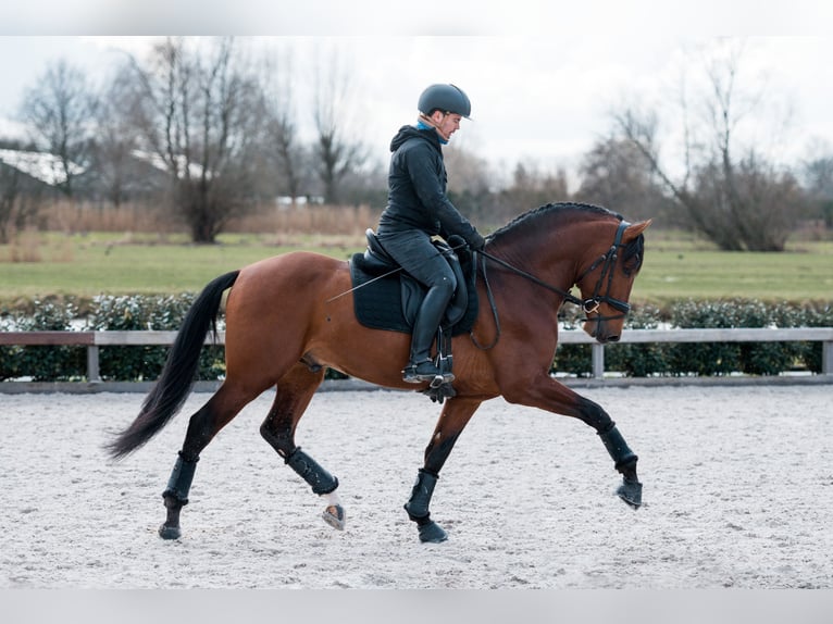
[[[195,242],[213,242],[250,207],[258,137],[257,80],[232,38],[169,38],[142,66],[132,118],[154,162],[170,173],[174,208]]]

